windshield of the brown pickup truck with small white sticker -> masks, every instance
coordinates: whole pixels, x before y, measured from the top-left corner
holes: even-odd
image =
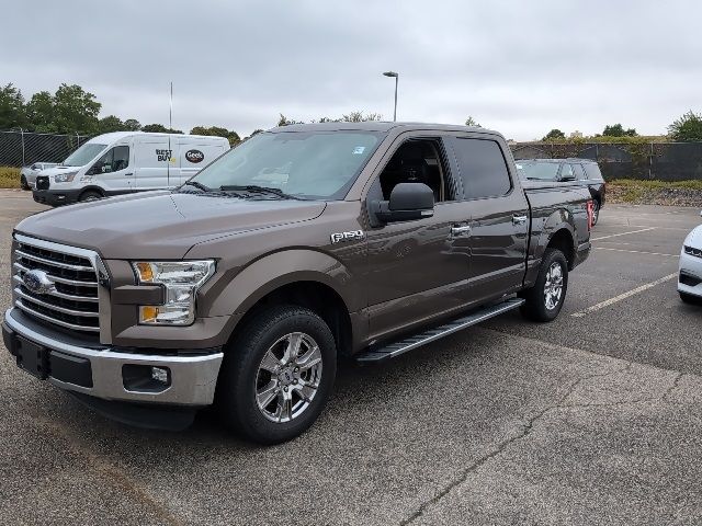
[[[342,199],[384,136],[363,130],[259,134],[192,182],[201,190],[259,186],[296,198]]]

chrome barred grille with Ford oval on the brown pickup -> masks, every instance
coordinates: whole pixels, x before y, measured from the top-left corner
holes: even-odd
[[[20,235],[15,239],[14,305],[44,322],[99,332],[97,254]]]

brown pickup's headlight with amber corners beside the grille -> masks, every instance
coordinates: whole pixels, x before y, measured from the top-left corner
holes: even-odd
[[[140,284],[162,285],[163,305],[139,306],[139,323],[190,325],[195,321],[195,294],[215,273],[215,262],[136,261],[132,263]]]

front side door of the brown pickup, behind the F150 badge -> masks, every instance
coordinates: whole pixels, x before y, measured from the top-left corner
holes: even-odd
[[[458,309],[468,300],[468,208],[441,137],[407,134],[375,176],[366,203],[387,201],[393,187],[420,182],[434,191],[433,217],[369,228],[370,332],[400,331],[411,323]]]

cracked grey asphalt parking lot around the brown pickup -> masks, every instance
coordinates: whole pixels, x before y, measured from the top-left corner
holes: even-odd
[[[0,307],[12,227],[0,191]],[[254,447],[99,416],[0,348],[1,524],[700,524],[702,307],[676,291],[699,210],[611,205],[561,317],[506,315],[342,368],[302,437]]]

